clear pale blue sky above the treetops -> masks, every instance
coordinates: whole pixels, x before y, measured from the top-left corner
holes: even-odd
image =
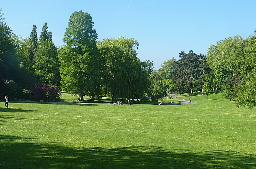
[[[82,10],[94,22],[98,40],[134,38],[140,61],[153,60],[155,69],[179,53],[207,54],[209,45],[228,36],[245,38],[256,30],[256,0],[0,0],[12,32],[37,35],[47,22],[54,44],[62,38],[70,15]]]

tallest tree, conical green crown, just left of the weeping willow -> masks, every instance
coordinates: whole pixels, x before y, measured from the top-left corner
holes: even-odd
[[[96,40],[90,14],[72,13],[63,38],[67,45],[59,53],[61,88],[78,94],[79,101],[84,100],[84,95],[93,98],[100,90],[101,66]]]

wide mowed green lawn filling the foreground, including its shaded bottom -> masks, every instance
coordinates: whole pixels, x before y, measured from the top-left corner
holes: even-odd
[[[0,168],[255,169],[256,109],[236,108],[221,94],[191,99],[163,106],[1,102]]]

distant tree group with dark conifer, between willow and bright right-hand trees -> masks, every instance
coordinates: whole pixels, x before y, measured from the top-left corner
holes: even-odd
[[[148,93],[155,100],[174,92],[192,95],[195,91],[203,90],[204,94],[210,94],[208,91],[211,87],[205,82],[211,74],[206,56],[190,50],[188,53],[180,52],[179,58],[178,61],[171,58],[151,74]]]

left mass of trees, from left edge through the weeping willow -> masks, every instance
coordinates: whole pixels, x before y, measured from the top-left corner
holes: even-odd
[[[1,12],[1,11],[0,11]],[[153,71],[151,60],[137,57],[139,43],[133,38],[97,41],[90,14],[71,14],[63,42],[57,48],[44,23],[39,39],[33,25],[29,37],[12,33],[0,13],[1,95],[20,99],[58,101],[59,90],[100,99],[144,98]]]

